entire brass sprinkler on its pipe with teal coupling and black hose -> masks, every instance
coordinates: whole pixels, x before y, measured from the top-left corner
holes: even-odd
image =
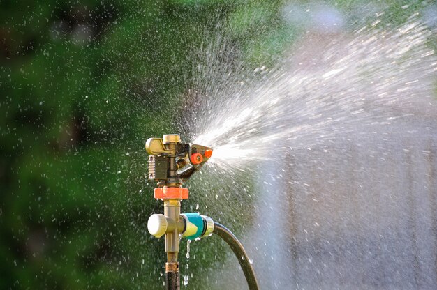
[[[156,238],[165,235],[165,289],[179,289],[179,238],[188,240],[217,234],[230,245],[243,269],[249,289],[257,290],[258,282],[242,244],[232,232],[210,217],[199,213],[181,214],[181,201],[188,199],[188,188],[182,183],[198,171],[212,156],[212,148],[198,144],[182,143],[177,134],[163,138],[149,138],[146,142],[149,153],[149,180],[157,182],[155,199],[164,202],[164,214],[149,217],[147,229]]]

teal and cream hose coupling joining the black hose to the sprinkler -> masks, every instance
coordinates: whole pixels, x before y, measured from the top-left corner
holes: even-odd
[[[183,213],[181,216],[185,220],[185,231],[182,236],[188,238],[188,240],[212,235],[214,221],[211,217],[199,213]]]

